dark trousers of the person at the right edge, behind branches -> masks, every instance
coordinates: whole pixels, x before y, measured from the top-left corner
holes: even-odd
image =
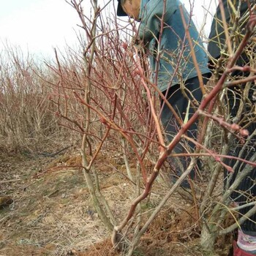
[[[236,72],[234,76],[243,75]],[[239,109],[240,103],[244,106],[242,110],[241,120],[238,123],[242,127],[245,127],[249,131],[249,135],[252,135],[256,129],[256,120],[255,120],[255,104],[256,104],[256,86],[252,84],[249,89],[249,94],[246,99],[243,97],[243,89],[245,85],[236,87],[227,91],[227,99],[229,106],[230,118],[236,117]],[[243,121],[244,120],[244,121]],[[246,148],[243,148],[244,143],[241,143],[241,140],[234,139],[231,143],[229,155],[234,157],[240,157],[241,159],[249,160],[254,154],[256,154],[256,136],[253,136],[249,139]],[[233,144],[233,145],[232,145]],[[225,189],[229,188],[233,182],[238,178],[238,174],[246,170],[246,167],[249,165],[244,164],[243,162],[236,161],[236,159],[226,160],[225,163],[230,167],[233,167],[234,173],[227,173],[225,170]],[[251,167],[250,173],[240,182],[236,191],[231,195],[232,199],[239,203],[239,206],[242,206],[246,203],[255,202],[256,200],[256,168]],[[242,208],[239,213],[244,216],[253,206]],[[256,214],[253,214],[250,219],[241,225],[241,230],[243,233],[249,236],[256,236]]]

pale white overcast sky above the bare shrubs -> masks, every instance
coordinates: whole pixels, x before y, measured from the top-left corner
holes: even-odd
[[[181,1],[190,8],[189,0]],[[107,0],[99,0],[99,6],[104,2]],[[89,14],[90,0],[83,0],[83,3],[84,11]],[[76,34],[80,20],[65,0],[0,0],[0,6],[0,53],[7,45],[12,45],[47,59],[53,56],[53,48],[64,49],[65,45],[72,47],[78,43]],[[201,28],[206,10],[213,13],[216,1],[195,0],[194,8],[193,18]],[[113,12],[113,4],[108,12]],[[207,18],[206,34],[211,15]]]

